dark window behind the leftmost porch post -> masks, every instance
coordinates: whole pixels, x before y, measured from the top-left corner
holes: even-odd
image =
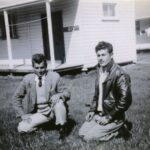
[[[10,37],[11,39],[18,38],[17,35],[17,28],[14,24],[16,24],[16,16],[11,14],[8,15],[9,18],[9,25],[10,25]],[[0,15],[0,39],[5,40],[6,39],[6,30],[5,30],[5,22],[4,22],[4,16]]]

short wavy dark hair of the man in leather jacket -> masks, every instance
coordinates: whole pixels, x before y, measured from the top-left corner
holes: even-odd
[[[113,46],[108,42],[104,42],[104,41],[99,42],[95,47],[95,52],[97,53],[102,49],[107,49],[109,53],[113,52]]]

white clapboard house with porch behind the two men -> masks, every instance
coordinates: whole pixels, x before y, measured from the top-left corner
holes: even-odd
[[[0,0],[0,68],[27,69],[44,53],[52,69],[87,69],[99,41],[116,62],[136,62],[134,0]]]

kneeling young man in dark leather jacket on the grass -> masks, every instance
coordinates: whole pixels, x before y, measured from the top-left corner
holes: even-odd
[[[79,135],[84,140],[107,141],[124,129],[125,111],[132,102],[130,77],[114,62],[110,43],[99,42],[95,51],[98,59],[95,94]]]

